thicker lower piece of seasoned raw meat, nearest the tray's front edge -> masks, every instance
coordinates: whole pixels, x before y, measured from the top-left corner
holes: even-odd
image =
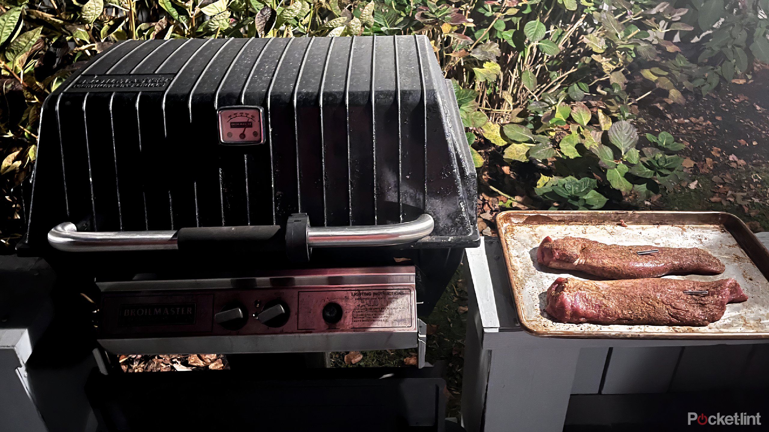
[[[574,324],[704,326],[720,320],[727,303],[746,300],[747,295],[734,279],[581,281],[558,277],[548,288],[545,311],[555,321]]]

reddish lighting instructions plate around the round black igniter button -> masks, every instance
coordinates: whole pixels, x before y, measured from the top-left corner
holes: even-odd
[[[414,326],[413,291],[409,288],[348,291],[301,291],[299,329],[376,329]],[[336,324],[323,321],[321,311],[328,303],[341,306]]]

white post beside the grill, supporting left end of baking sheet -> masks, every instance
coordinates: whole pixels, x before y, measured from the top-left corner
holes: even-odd
[[[560,432],[580,348],[515,343],[515,336],[527,335],[518,328],[509,292],[494,293],[494,286],[507,278],[498,246],[481,242],[480,248],[467,250],[464,427],[470,432]]]

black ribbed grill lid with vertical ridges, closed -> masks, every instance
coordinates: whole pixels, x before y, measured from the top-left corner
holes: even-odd
[[[434,231],[414,246],[463,247],[478,241],[475,194],[424,36],[128,41],[46,99],[26,242],[42,247],[64,221],[146,231],[427,213]]]

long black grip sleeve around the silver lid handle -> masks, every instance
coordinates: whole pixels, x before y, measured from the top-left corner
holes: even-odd
[[[176,236],[179,251],[285,251],[285,231],[279,225],[181,228]]]

